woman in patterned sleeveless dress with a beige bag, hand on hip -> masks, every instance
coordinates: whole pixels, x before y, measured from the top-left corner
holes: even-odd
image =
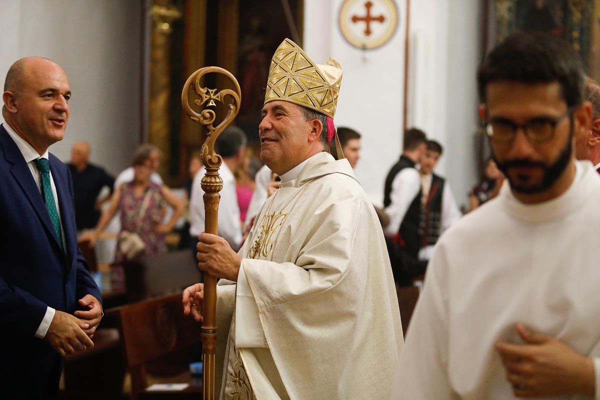
[[[116,188],[109,207],[102,213],[94,233],[89,238],[93,245],[110,219],[120,210],[121,232],[116,262],[133,260],[141,254],[166,252],[164,234],[173,229],[184,207],[182,201],[168,187],[157,185],[150,180],[152,161],[148,157],[137,155],[133,160],[133,169],[133,182],[121,184]],[[163,224],[165,203],[172,206],[174,212],[170,221]]]

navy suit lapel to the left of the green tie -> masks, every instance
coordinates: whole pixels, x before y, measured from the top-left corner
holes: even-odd
[[[31,170],[29,170],[27,163],[25,163],[25,158],[23,158],[16,143],[13,142],[13,139],[8,135],[4,127],[0,127],[0,145],[4,149],[6,160],[13,164],[10,170],[11,174],[25,193],[29,203],[34,207],[35,213],[37,213],[46,228],[46,234],[52,237],[52,240],[58,246],[58,238],[52,226],[52,221],[50,221],[50,215],[41,197],[40,190],[35,184],[35,179],[31,175]]]

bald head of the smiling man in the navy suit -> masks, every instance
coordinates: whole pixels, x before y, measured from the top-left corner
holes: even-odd
[[[2,94],[4,121],[35,151],[44,154],[62,140],[71,89],[65,71],[47,58],[28,57],[8,70]]]

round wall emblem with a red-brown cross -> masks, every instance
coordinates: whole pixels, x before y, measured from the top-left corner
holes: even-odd
[[[394,35],[397,26],[394,0],[346,0],[341,5],[341,34],[359,49],[382,46]]]

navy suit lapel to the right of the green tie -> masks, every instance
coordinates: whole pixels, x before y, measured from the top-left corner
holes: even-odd
[[[75,255],[75,247],[77,246],[77,232],[73,229],[75,222],[73,218],[73,201],[68,190],[68,178],[66,169],[61,168],[59,161],[53,155],[50,158],[50,171],[54,179],[56,194],[58,196],[58,205],[61,207],[62,231],[65,233],[65,249],[67,250],[68,260],[67,268],[71,269],[73,265],[73,257]]]

